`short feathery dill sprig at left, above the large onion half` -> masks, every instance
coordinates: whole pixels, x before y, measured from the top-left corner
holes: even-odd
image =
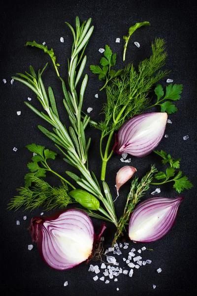
[[[59,187],[52,187],[44,180],[32,176],[31,181],[33,186],[20,187],[17,189],[19,195],[11,198],[11,202],[8,204],[8,209],[18,210],[22,206],[25,209],[35,209],[38,207],[45,207],[46,210],[63,209],[70,203],[76,203],[76,201],[68,195],[68,187],[64,181],[63,185]]]

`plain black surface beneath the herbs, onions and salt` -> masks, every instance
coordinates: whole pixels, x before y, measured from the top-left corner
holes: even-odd
[[[163,1],[163,0],[124,0],[124,1],[3,1],[1,3],[1,28],[0,28],[0,130],[1,130],[1,186],[0,186],[0,219],[1,219],[1,285],[3,295],[21,296],[54,296],[54,295],[124,295],[124,296],[186,296],[194,295],[196,290],[196,225],[197,225],[197,182],[196,182],[196,112],[197,112],[197,22],[196,0],[187,1]],[[101,83],[97,75],[89,70],[89,65],[98,64],[102,56],[99,48],[108,44],[113,52],[117,53],[117,67],[124,67],[122,62],[123,35],[127,35],[128,29],[136,22],[149,21],[150,27],[137,30],[131,37],[126,62],[133,62],[136,66],[141,59],[151,53],[151,41],[155,37],[162,37],[166,41],[168,57],[165,68],[171,70],[166,78],[174,79],[174,83],[183,84],[181,100],[176,102],[178,112],[169,115],[172,124],[167,124],[165,133],[168,138],[163,138],[158,148],[166,150],[172,156],[182,159],[181,169],[193,182],[194,188],[184,190],[183,194],[177,194],[169,186],[161,186],[160,196],[175,197],[183,195],[177,220],[172,230],[161,240],[149,244],[138,244],[153,248],[153,252],[144,251],[146,259],[152,259],[152,264],[142,266],[136,270],[133,277],[121,275],[118,282],[111,281],[106,285],[101,281],[94,282],[93,273],[88,272],[88,266],[82,263],[80,266],[67,270],[57,271],[48,267],[39,258],[37,248],[28,250],[31,244],[31,236],[27,230],[33,216],[44,211],[42,208],[30,211],[21,209],[17,212],[6,209],[10,198],[16,195],[16,188],[24,185],[24,175],[28,172],[27,163],[32,154],[25,145],[36,143],[56,150],[39,130],[38,124],[48,127],[38,118],[24,101],[32,97],[31,104],[38,108],[39,103],[30,89],[14,81],[10,84],[11,76],[16,73],[28,71],[32,65],[37,71],[46,62],[49,66],[43,74],[45,86],[53,87],[56,96],[57,107],[62,121],[68,124],[68,118],[62,100],[61,84],[53,69],[50,58],[42,51],[25,47],[27,41],[36,40],[38,43],[46,42],[49,48],[53,48],[60,63],[60,74],[66,79],[66,59],[70,57],[72,36],[65,21],[72,26],[75,17],[81,21],[93,18],[94,33],[86,49],[88,57],[85,73],[89,75],[88,86],[85,93],[83,109],[92,107],[90,113],[94,120],[102,118],[99,115],[101,105],[105,102],[105,92],[99,92]],[[64,37],[65,42],[60,42]],[[117,37],[120,43],[115,43]],[[140,43],[137,48],[133,41]],[[4,84],[2,79],[7,83]],[[166,86],[166,78],[161,83]],[[95,94],[99,93],[99,99]],[[16,111],[21,111],[17,116]],[[159,111],[159,110],[158,110]],[[91,135],[90,169],[97,176],[100,174],[101,162],[99,160],[99,131],[87,128],[87,135]],[[182,137],[189,135],[187,141]],[[14,152],[13,147],[17,147]],[[132,157],[131,165],[137,168],[137,176],[150,168],[151,163],[156,163],[160,168],[159,159],[151,153],[143,159]],[[108,163],[106,181],[111,187],[113,196],[115,193],[115,176],[123,164],[119,155],[113,155]],[[51,166],[64,175],[67,169],[62,155],[51,162]],[[161,167],[162,168],[162,167]],[[58,185],[59,180],[54,176],[48,176],[47,180]],[[144,198],[150,196],[156,186],[151,186]],[[121,189],[121,195],[116,201],[117,215],[120,216],[126,199],[129,185]],[[44,214],[49,214],[44,212]],[[23,221],[26,215],[27,221]],[[16,225],[16,220],[21,224]],[[99,229],[100,221],[93,220],[95,229]],[[105,232],[105,246],[110,246],[115,228],[107,224]],[[131,247],[136,245],[130,243]],[[125,252],[126,253],[126,252]],[[123,266],[122,259],[119,259]],[[126,266],[126,265],[125,265]],[[161,267],[162,273],[156,269]],[[64,282],[68,286],[64,287]],[[157,287],[153,290],[152,285]],[[120,291],[117,292],[116,288]]]

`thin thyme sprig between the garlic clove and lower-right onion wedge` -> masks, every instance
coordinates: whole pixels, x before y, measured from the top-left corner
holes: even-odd
[[[117,241],[118,237],[121,235],[122,231],[125,230],[125,225],[129,220],[131,213],[134,210],[135,205],[140,201],[140,198],[149,189],[149,186],[153,180],[154,173],[157,172],[155,165],[151,166],[151,170],[142,177],[141,181],[138,178],[134,178],[131,182],[131,190],[127,197],[127,203],[125,205],[125,210],[123,215],[118,221],[117,231],[115,233],[112,246]]]

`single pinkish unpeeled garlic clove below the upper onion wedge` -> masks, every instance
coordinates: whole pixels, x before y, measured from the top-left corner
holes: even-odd
[[[116,189],[117,189],[117,194],[122,185],[124,185],[136,172],[136,168],[133,168],[130,165],[126,165],[118,171],[116,175]],[[119,195],[119,194],[118,194]]]

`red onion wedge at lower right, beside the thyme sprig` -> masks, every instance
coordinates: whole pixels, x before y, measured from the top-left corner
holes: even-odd
[[[137,242],[153,242],[172,228],[183,197],[152,197],[141,202],[131,214],[129,237]]]

